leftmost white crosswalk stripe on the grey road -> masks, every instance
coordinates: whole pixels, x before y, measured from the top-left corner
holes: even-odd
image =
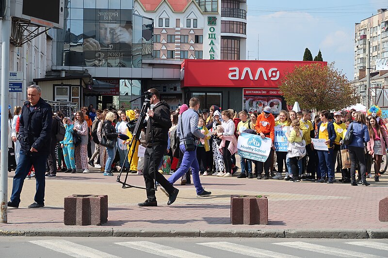
[[[36,240],[29,242],[76,258],[119,258],[97,249],[65,240]]]

